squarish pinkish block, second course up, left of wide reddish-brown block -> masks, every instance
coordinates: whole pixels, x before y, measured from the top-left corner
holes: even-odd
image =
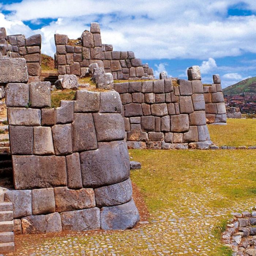
[[[53,188],[41,188],[32,190],[33,215],[55,212],[55,200]]]

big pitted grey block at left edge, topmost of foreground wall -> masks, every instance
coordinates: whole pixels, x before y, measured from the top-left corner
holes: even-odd
[[[29,80],[23,58],[0,58],[0,70],[0,83],[24,83]]]

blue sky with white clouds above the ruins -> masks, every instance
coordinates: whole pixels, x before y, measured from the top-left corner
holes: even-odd
[[[0,0],[7,34],[42,35],[53,56],[54,34],[78,38],[99,22],[102,42],[132,50],[156,77],[187,78],[199,65],[204,83],[219,74],[226,87],[256,76],[256,1],[251,0]]]

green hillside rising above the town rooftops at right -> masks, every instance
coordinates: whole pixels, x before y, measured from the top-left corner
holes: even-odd
[[[256,76],[242,80],[236,84],[223,89],[223,94],[255,94],[256,95]]]

